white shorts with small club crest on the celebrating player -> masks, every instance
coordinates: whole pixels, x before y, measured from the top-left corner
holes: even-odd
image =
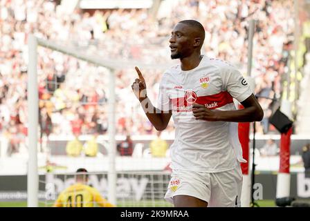
[[[219,173],[172,171],[165,200],[173,204],[175,195],[190,195],[208,202],[210,207],[240,207],[241,189],[239,164],[233,170]]]

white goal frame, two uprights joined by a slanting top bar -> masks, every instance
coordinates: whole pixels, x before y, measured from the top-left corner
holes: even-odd
[[[28,192],[28,207],[38,206],[38,189],[39,175],[37,169],[37,126],[38,126],[38,87],[37,87],[37,46],[43,46],[52,50],[63,52],[66,55],[71,55],[78,59],[88,61],[97,66],[108,68],[109,71],[109,201],[116,204],[116,127],[115,127],[115,79],[113,75],[113,61],[104,61],[97,57],[89,57],[84,53],[70,48],[63,48],[51,41],[39,39],[34,35],[30,35],[28,41],[28,137],[29,137],[29,159],[28,159],[28,177],[27,177],[27,192]]]

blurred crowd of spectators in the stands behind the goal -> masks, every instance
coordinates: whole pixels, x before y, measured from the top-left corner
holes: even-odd
[[[154,135],[152,124],[131,93],[135,62],[170,63],[169,42],[173,26],[197,19],[206,29],[203,54],[235,64],[246,75],[248,21],[256,19],[253,42],[255,93],[264,108],[257,133],[268,133],[273,102],[288,71],[293,46],[293,1],[186,0],[172,1],[172,10],[161,8],[154,19],[145,9],[66,12],[59,1],[0,1],[0,134],[12,144],[27,134],[27,41],[31,33],[57,44],[115,61],[132,61],[133,68],[118,69],[116,118],[119,135]],[[44,135],[84,135],[107,131],[109,71],[39,47],[39,122]],[[143,69],[147,93],[156,102],[163,70]],[[173,122],[163,131],[174,134]],[[13,145],[14,146],[14,145]]]

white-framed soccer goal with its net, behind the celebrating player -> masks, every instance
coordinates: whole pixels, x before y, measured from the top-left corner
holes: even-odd
[[[168,151],[151,155],[156,135],[131,93],[134,66],[147,70],[147,84],[156,88],[154,73],[167,64],[98,54],[30,37],[28,206],[53,206],[75,183],[79,168],[88,171],[87,184],[116,206],[172,206],[163,199],[170,180]],[[148,95],[156,99],[156,93]],[[168,144],[172,131],[162,135]],[[128,136],[133,150],[126,155],[119,148]]]

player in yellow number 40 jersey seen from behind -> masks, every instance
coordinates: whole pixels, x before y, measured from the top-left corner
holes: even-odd
[[[86,169],[76,171],[76,184],[69,186],[60,193],[54,207],[94,207],[95,203],[100,207],[114,207],[113,204],[102,198],[100,193],[87,185],[88,175]]]

